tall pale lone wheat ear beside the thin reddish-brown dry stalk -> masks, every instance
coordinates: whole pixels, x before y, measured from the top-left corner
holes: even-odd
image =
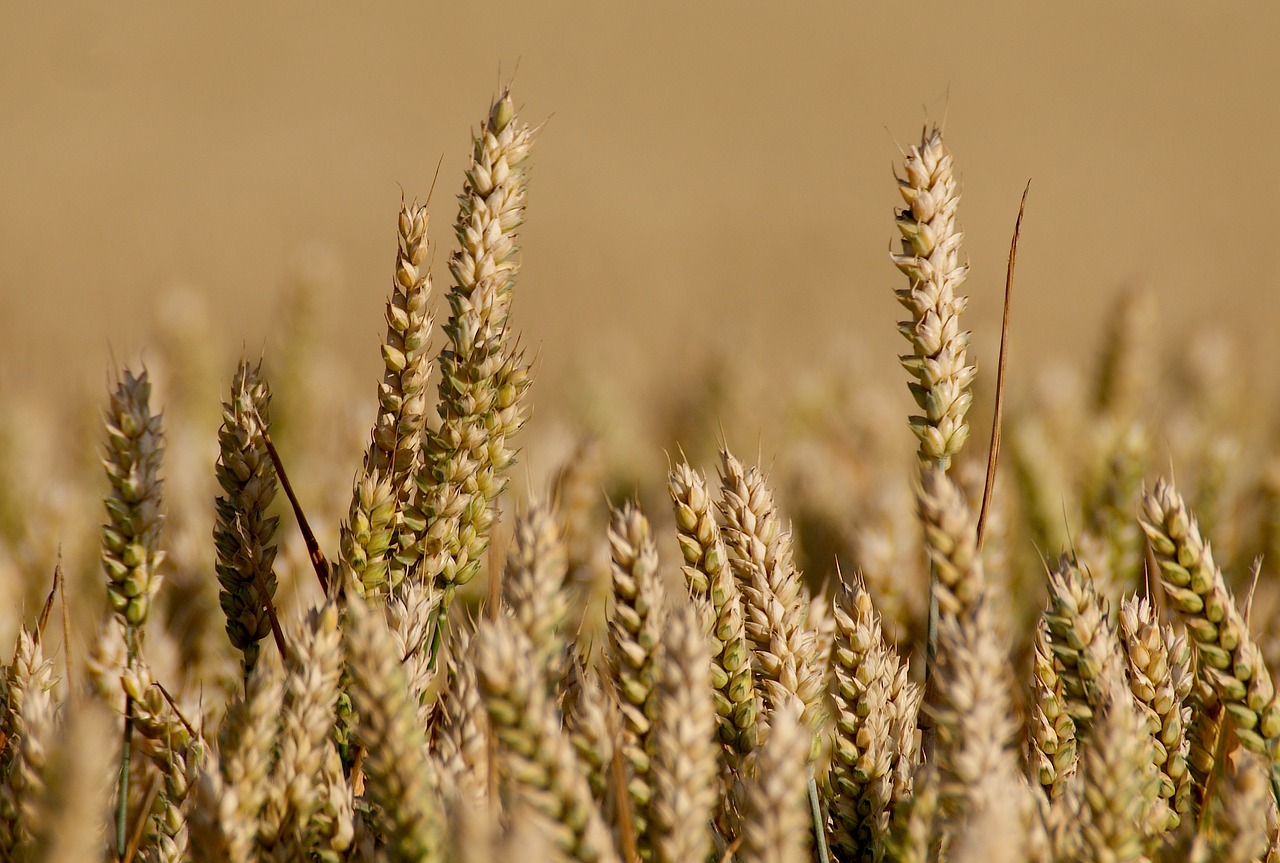
[[[957,294],[968,274],[960,262],[964,236],[956,224],[960,190],[942,131],[925,129],[902,168],[905,178],[897,181],[906,202],[897,214],[902,254],[892,259],[908,278],[908,287],[895,293],[910,314],[897,328],[913,352],[901,362],[915,378],[911,394],[924,411],[910,419],[920,439],[920,460],[946,470],[969,438],[965,415],[973,403],[975,370],[968,357],[969,333],[960,329],[968,305],[968,297]]]

